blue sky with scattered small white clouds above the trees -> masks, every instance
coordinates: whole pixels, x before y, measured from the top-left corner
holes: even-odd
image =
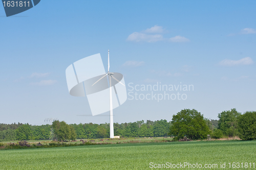
[[[185,108],[212,119],[231,108],[255,111],[255,5],[42,0],[10,17],[0,6],[0,123],[109,123],[108,113],[77,116],[91,110],[87,98],[69,94],[65,76],[70,64],[97,53],[106,70],[108,49],[110,70],[124,75],[127,92],[129,83],[194,85],[182,92],[186,100],[127,100],[114,122],[169,121]]]

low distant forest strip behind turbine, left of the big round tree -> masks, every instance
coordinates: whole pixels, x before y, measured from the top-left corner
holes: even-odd
[[[116,136],[123,137],[152,137],[167,136],[171,123],[167,120],[144,120],[134,123],[114,123]],[[51,125],[32,126],[29,124],[0,124],[0,141],[9,140],[48,140],[54,130],[53,139],[74,140],[90,138],[106,138],[110,136],[110,124],[71,124],[59,122]]]

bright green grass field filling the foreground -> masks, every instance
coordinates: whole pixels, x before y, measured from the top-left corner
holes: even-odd
[[[232,162],[256,163],[256,141],[127,143],[0,151],[0,169],[151,169],[150,162],[218,164],[215,169],[229,169],[229,162],[231,167]],[[220,168],[224,162],[226,168]],[[240,164],[240,169],[256,168],[252,164],[251,168],[241,168]]]

